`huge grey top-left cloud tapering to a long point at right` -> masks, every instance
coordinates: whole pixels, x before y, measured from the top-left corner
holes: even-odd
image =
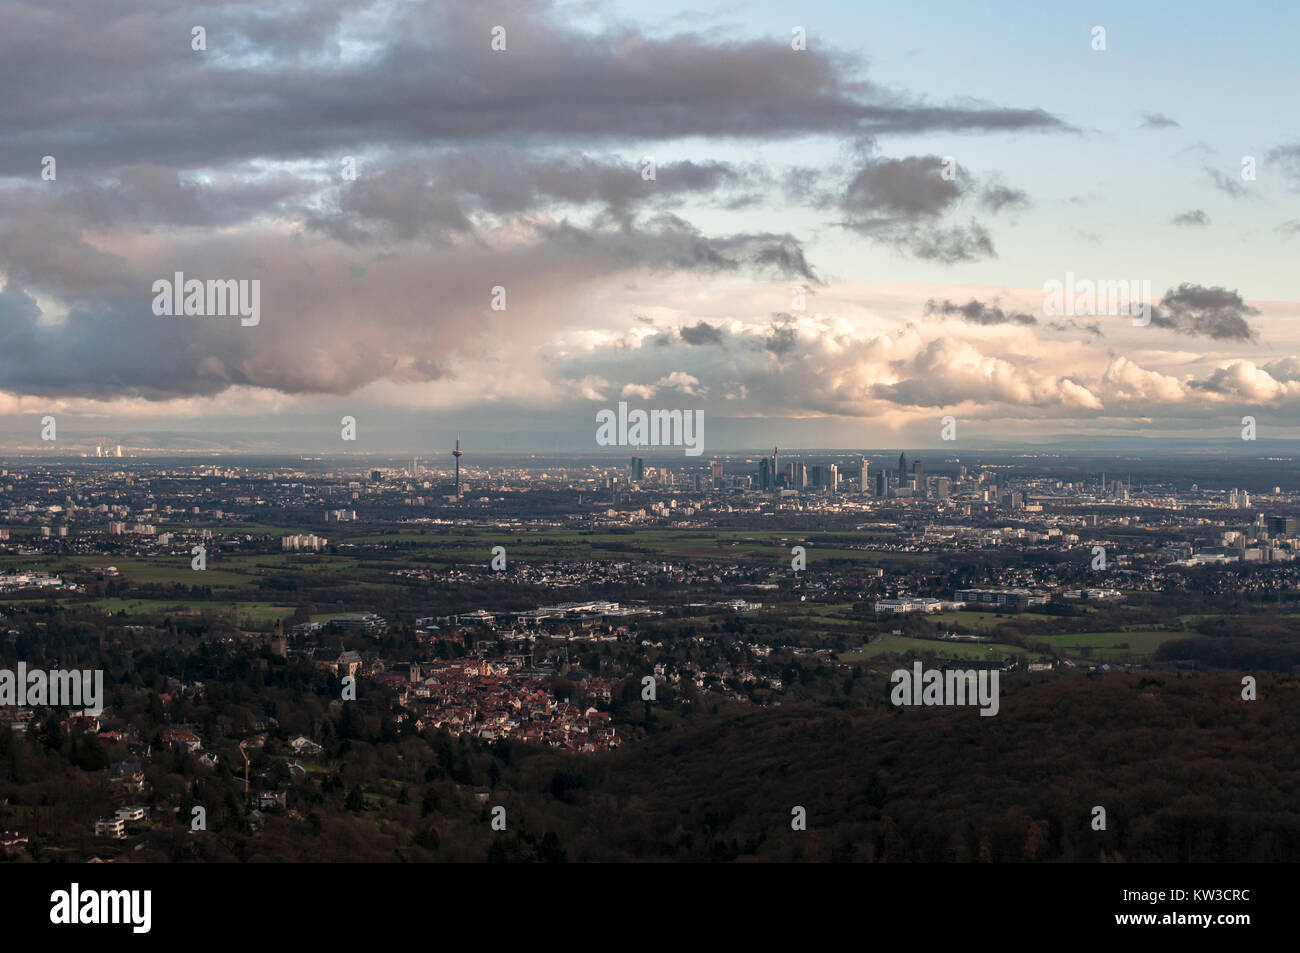
[[[205,52],[190,48],[196,23]],[[31,174],[32,143],[84,173],[504,138],[1067,129],[1035,108],[916,103],[861,69],[780,36],[580,33],[541,1],[14,3],[0,88],[23,95],[0,101],[0,173]]]

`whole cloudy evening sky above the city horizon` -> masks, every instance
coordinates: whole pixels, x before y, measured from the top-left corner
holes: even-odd
[[[0,445],[1300,438],[1300,8],[1140,7],[0,3]]]

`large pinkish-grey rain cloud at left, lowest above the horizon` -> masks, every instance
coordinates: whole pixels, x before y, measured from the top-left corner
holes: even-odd
[[[261,248],[263,268],[254,267],[250,244]],[[204,237],[177,239],[156,255],[165,257],[113,260],[66,294],[61,273],[40,273],[40,289],[10,273],[0,315],[3,386],[42,397],[164,400],[235,386],[348,394],[374,381],[437,380],[458,352],[477,352],[493,333],[484,312],[502,274],[510,276],[510,339],[528,347],[546,339],[555,303],[604,277],[610,264],[545,246],[491,255],[450,247],[436,256],[374,256],[367,280],[358,281],[348,268],[354,254],[339,246]],[[173,270],[199,280],[257,278],[260,324],[153,315],[152,282]],[[61,320],[29,304],[51,289],[73,302]]]

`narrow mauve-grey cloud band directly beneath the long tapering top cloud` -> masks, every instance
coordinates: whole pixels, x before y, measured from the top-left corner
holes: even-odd
[[[10,209],[79,216],[88,226],[229,226],[255,218],[299,220],[350,243],[471,235],[474,217],[556,204],[594,207],[624,225],[641,207],[664,207],[762,182],[727,163],[667,163],[654,181],[640,166],[582,155],[529,157],[452,152],[359,166],[350,182],[294,176],[182,177],[156,165],[126,166],[100,182],[25,186]]]

